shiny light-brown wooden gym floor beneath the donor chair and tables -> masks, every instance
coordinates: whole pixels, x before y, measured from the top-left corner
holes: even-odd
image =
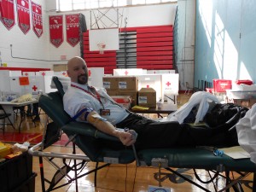
[[[177,102],[178,107],[183,105],[187,102],[189,96],[178,96]],[[26,133],[42,133],[44,132],[44,125],[46,123],[46,116],[44,114],[41,115],[41,120],[37,122],[36,127],[32,124],[30,118],[27,118],[25,122],[22,124],[22,132]],[[14,131],[11,127],[8,127],[7,131]],[[16,130],[17,131],[17,130]],[[0,133],[2,134],[2,133]],[[49,151],[55,152],[62,152],[62,153],[72,153],[71,147],[60,147],[60,146],[52,146],[48,148]],[[83,154],[77,148],[77,152]],[[61,165],[61,160],[56,161],[56,165]],[[91,170],[95,167],[95,163],[89,162],[84,171]],[[38,176],[36,177],[36,186],[35,191],[40,192],[42,191],[41,181],[40,181],[40,171],[39,171],[39,162],[38,157],[33,157],[33,172],[36,172]],[[175,169],[177,170],[177,169]],[[195,174],[192,172],[191,169],[178,169],[177,172],[180,172],[185,177],[191,178],[195,183],[200,183],[199,180],[195,177]],[[53,177],[55,173],[55,167],[50,166],[49,163],[44,160],[44,174],[45,177],[48,177],[49,180]],[[171,172],[167,172],[164,169],[161,170],[160,179],[159,179],[159,169],[155,167],[146,167],[146,166],[139,166],[137,167],[135,163],[131,165],[111,165],[108,167],[103,168],[102,170],[98,171],[97,175],[97,185],[95,187],[94,183],[94,175],[90,174],[85,177],[81,177],[78,182],[79,191],[83,192],[91,192],[91,191],[98,191],[98,192],[113,192],[113,191],[127,191],[127,192],[146,192],[148,191],[148,186],[159,186],[159,181],[161,181],[161,186],[170,189],[172,192],[200,192],[203,191],[199,189],[195,185],[190,184],[187,181],[184,181],[183,178],[177,177]],[[197,170],[198,175],[203,180],[207,180],[210,178],[208,172],[204,170]],[[212,173],[211,173],[212,175]],[[235,177],[237,174],[235,173]],[[252,186],[252,178],[253,174],[246,177],[241,186],[243,187],[245,192],[252,191],[250,187]],[[64,178],[64,181],[67,181]],[[218,178],[218,189],[222,189],[224,187],[224,178]],[[64,183],[64,182],[61,182]],[[216,180],[214,180],[216,183]],[[209,189],[209,191],[214,191],[214,187],[212,183],[209,184],[202,184],[202,186]],[[47,184],[46,187],[49,185]],[[70,183],[67,186],[54,190],[56,192],[73,192],[76,191],[75,183]],[[152,190],[153,191],[153,190]],[[156,190],[154,190],[156,191]],[[234,191],[230,189],[230,191]]]

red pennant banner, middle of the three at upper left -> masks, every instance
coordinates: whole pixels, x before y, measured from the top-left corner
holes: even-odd
[[[26,34],[30,30],[29,0],[17,0],[17,15],[20,30]]]

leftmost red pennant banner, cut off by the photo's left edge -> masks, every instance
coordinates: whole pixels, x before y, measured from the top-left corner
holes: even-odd
[[[0,0],[0,17],[3,22],[3,25],[8,30],[15,26],[14,0]]]

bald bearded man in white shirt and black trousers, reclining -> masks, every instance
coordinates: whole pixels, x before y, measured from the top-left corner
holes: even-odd
[[[80,57],[67,62],[71,79],[63,104],[65,111],[78,121],[94,125],[96,129],[118,137],[121,147],[135,143],[137,149],[170,148],[178,146],[234,146],[238,145],[236,129],[193,128],[174,121],[158,122],[137,113],[131,113],[113,102],[105,89],[95,89],[88,84],[88,69]],[[84,125],[85,126],[85,125]],[[129,128],[130,131],[119,131]],[[137,138],[132,137],[132,130]],[[117,148],[119,144],[116,143]]]

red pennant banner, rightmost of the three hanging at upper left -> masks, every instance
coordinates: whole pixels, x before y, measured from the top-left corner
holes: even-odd
[[[32,27],[38,38],[43,34],[42,6],[31,2],[32,6]]]

